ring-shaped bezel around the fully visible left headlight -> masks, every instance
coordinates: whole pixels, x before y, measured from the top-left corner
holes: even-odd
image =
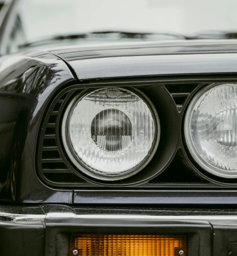
[[[100,87],[100,89],[101,88],[103,88],[103,87]],[[119,88],[119,87],[116,86],[114,88]],[[113,176],[96,174],[89,165],[86,165],[82,161],[78,161],[78,159],[76,159],[76,157],[71,152],[70,147],[72,147],[72,146],[69,145],[69,142],[67,139],[67,135],[68,135],[68,125],[67,124],[68,124],[71,110],[73,109],[74,105],[78,101],[80,101],[85,95],[90,94],[92,91],[95,91],[96,89],[97,88],[84,89],[84,90],[80,91],[79,93],[74,94],[73,98],[68,102],[68,104],[64,110],[64,113],[62,115],[62,122],[61,122],[61,131],[62,131],[61,134],[62,134],[62,142],[63,142],[64,150],[66,152],[66,155],[69,157],[69,159],[73,163],[73,165],[82,174],[86,174],[87,176],[89,176],[91,178],[95,178],[101,182],[103,182],[103,181],[104,182],[121,181],[121,180],[127,179],[127,178],[139,173],[142,169],[145,168],[146,165],[148,165],[150,163],[153,156],[155,155],[155,152],[159,145],[160,134],[161,134],[161,125],[160,125],[159,116],[158,116],[158,113],[156,111],[154,104],[152,103],[152,101],[150,101],[150,99],[146,96],[145,93],[143,93],[142,91],[140,91],[134,87],[129,87],[128,89],[125,88],[126,90],[131,91],[131,92],[135,93],[138,97],[140,97],[146,103],[147,107],[151,111],[151,114],[152,114],[152,117],[154,120],[154,126],[155,126],[155,135],[154,135],[152,147],[150,148],[149,153],[146,155],[146,157],[143,159],[143,161],[141,161],[137,166],[132,168],[126,174],[118,174],[118,175],[113,175]]]

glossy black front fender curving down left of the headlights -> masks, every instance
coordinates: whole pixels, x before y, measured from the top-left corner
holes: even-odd
[[[71,192],[48,189],[36,175],[38,128],[55,90],[73,81],[64,62],[45,52],[0,58],[0,198],[71,201]]]

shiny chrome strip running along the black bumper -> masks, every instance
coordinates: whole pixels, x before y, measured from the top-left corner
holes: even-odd
[[[9,214],[0,212],[5,221],[45,221],[46,219],[143,219],[143,220],[236,220],[237,215],[126,215],[126,214],[74,214],[72,212],[50,212],[46,215]]]

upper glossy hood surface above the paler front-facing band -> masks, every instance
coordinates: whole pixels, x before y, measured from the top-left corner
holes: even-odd
[[[224,54],[237,53],[237,40],[130,42],[128,44],[119,43],[110,45],[95,44],[90,46],[68,46],[49,50],[54,54],[60,55],[67,62],[123,56]]]

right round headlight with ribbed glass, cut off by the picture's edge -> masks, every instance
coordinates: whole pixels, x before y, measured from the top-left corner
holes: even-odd
[[[187,109],[184,134],[203,169],[237,178],[237,84],[212,84],[197,93]]]

